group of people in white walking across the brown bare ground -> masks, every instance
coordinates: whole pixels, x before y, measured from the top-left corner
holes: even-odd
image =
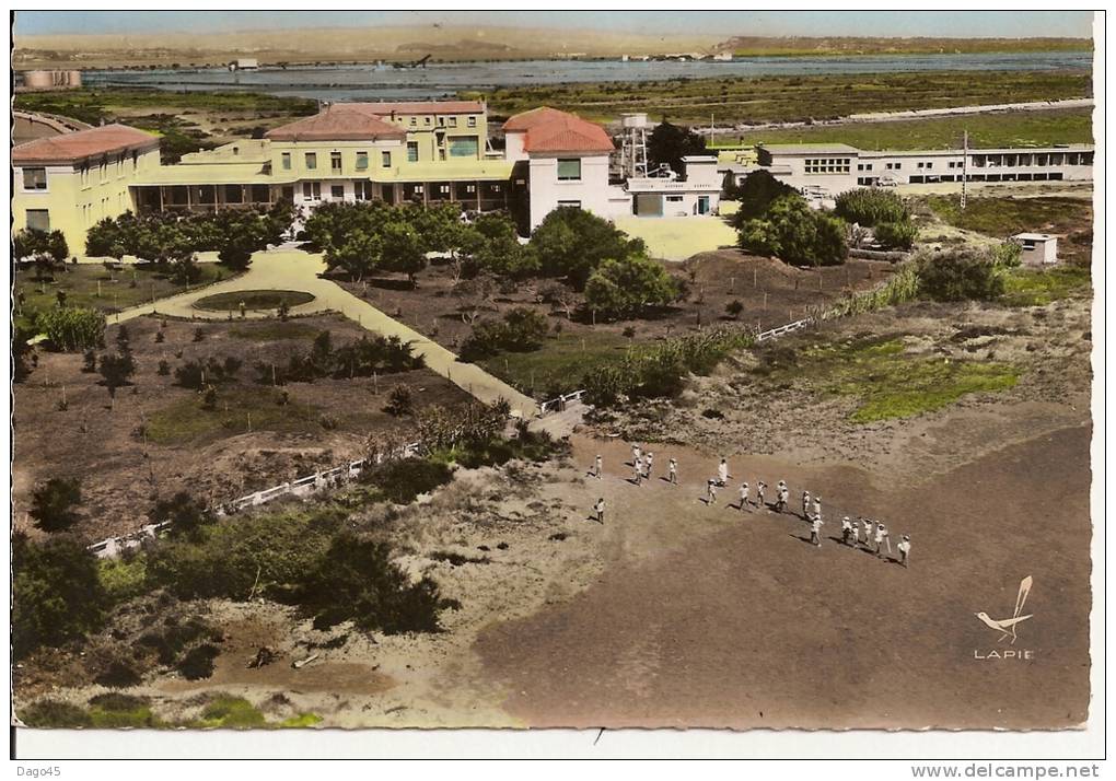
[[[647,451],[644,452],[639,445],[632,445],[632,478],[628,482],[635,485],[642,485],[644,481],[648,481],[652,478],[652,471],[655,464],[655,454]],[[604,478],[604,459],[597,455],[594,461],[593,469],[589,470],[589,476],[600,480]],[[716,467],[716,476],[710,478],[705,481],[705,498],[704,502],[706,507],[716,504],[716,492],[719,489],[728,488],[729,480],[732,475],[729,474],[729,462],[727,459],[721,459],[721,463]],[[663,480],[672,485],[679,484],[679,462],[675,459],[670,459],[666,463],[666,473],[663,475]],[[790,503],[790,489],[787,488],[787,483],[782,480],[779,481],[778,485],[775,486],[775,503],[768,504],[766,501],[767,483],[762,480],[756,482],[756,502],[752,503],[752,486],[748,482],[740,483],[740,502],[735,505],[735,509],[741,512],[751,512],[752,508],[757,510],[768,510],[775,511],[777,513],[783,513]],[[729,507],[732,507],[731,504]],[[602,496],[597,500],[596,504],[593,505],[594,515],[599,523],[605,522],[605,499]],[[818,494],[810,495],[809,491],[802,491],[802,513],[801,518],[804,521],[810,524],[810,542],[817,547],[821,547],[821,527],[825,526],[825,520],[821,517],[821,496]],[[858,515],[855,520],[848,515],[841,518],[840,521],[840,539],[841,542],[850,548],[865,547],[869,551],[874,552],[879,558],[893,557],[892,552],[892,533],[882,521],[873,521],[869,518],[864,518]],[[884,549],[887,550],[887,557],[884,556]],[[907,567],[911,560],[911,537],[908,534],[903,534],[899,538],[899,542],[896,546],[898,552],[897,562],[904,567]]]

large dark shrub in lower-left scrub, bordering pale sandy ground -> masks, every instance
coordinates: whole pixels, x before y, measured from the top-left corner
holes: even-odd
[[[391,553],[387,544],[353,532],[334,538],[299,591],[299,604],[314,615],[315,626],[352,620],[359,629],[389,635],[437,631],[437,585],[425,577],[411,584]]]

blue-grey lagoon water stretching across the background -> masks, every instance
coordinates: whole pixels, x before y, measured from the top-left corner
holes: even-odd
[[[873,55],[864,57],[748,57],[731,62],[531,60],[435,62],[425,68],[376,65],[298,66],[230,71],[225,68],[93,70],[86,86],[145,86],[174,91],[240,90],[319,100],[431,99],[460,90],[588,81],[651,81],[672,78],[749,78],[930,70],[1088,69],[1086,51],[966,55]]]

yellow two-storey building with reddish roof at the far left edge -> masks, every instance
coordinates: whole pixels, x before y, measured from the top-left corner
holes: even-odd
[[[92,225],[133,210],[129,187],[160,168],[158,137],[125,125],[38,138],[11,157],[12,229],[61,231],[71,254]]]

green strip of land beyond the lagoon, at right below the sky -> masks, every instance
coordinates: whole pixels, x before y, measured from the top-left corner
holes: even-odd
[[[738,57],[1091,51],[1089,38],[761,38],[735,36],[719,51]]]

